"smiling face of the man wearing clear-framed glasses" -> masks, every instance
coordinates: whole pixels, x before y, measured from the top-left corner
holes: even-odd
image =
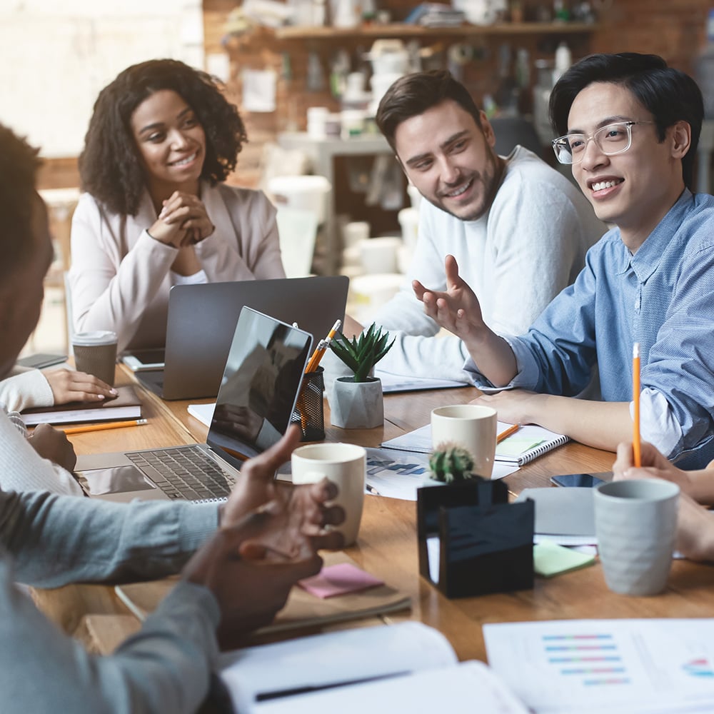
[[[568,132],[592,136],[614,121],[653,122],[653,116],[625,87],[595,82],[580,91],[568,114]],[[605,156],[588,141],[573,177],[593,204],[595,215],[615,223],[625,245],[635,251],[684,190],[682,157],[689,146],[685,122],[670,126],[664,141],[655,124],[635,124],[632,145],[623,154]]]

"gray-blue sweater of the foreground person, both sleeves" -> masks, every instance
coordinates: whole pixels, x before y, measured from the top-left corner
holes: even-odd
[[[206,588],[180,583],[138,635],[97,657],[56,630],[13,583],[55,587],[175,573],[216,525],[215,506],[0,492],[4,714],[196,710],[218,650],[220,613]]]

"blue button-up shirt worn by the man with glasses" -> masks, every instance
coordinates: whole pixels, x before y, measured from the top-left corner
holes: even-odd
[[[506,339],[518,362],[511,386],[575,396],[597,363],[605,401],[632,398],[639,342],[643,438],[680,466],[705,466],[714,458],[714,196],[685,190],[635,255],[619,228],[605,233],[575,283],[525,336]],[[490,384],[473,361],[466,369]]]

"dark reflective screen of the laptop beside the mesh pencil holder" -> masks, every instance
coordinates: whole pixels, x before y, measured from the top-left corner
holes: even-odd
[[[244,307],[216,398],[207,443],[236,468],[287,431],[312,336]]]

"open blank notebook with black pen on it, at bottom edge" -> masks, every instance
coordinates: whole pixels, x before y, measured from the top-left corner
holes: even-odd
[[[316,635],[222,655],[233,708],[256,714],[526,714],[480,662],[416,622]]]

